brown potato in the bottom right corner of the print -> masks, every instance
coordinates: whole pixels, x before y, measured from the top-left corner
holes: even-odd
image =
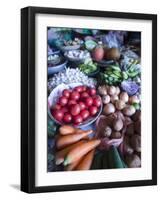
[[[141,166],[141,159],[136,154],[127,155],[125,162],[129,168],[137,168]]]

